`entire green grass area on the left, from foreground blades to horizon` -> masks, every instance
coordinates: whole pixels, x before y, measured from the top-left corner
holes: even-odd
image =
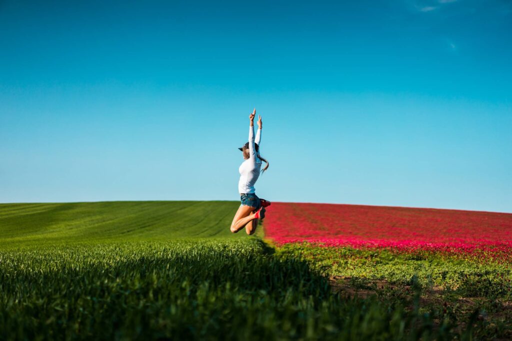
[[[0,205],[0,339],[469,339],[232,235],[238,202]],[[414,285],[413,285],[414,287]],[[410,307],[412,304],[412,307]]]

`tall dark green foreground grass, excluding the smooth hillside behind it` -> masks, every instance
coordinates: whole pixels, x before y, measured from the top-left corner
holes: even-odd
[[[259,239],[49,248],[2,257],[2,339],[456,336],[449,324],[434,328],[432,316],[417,310],[342,298],[308,262],[276,254]]]

